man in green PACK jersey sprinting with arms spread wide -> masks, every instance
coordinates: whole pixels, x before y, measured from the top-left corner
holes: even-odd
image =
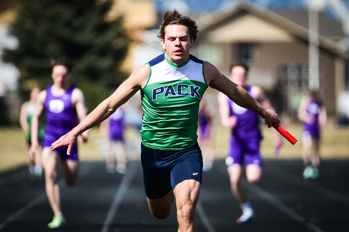
[[[201,187],[202,155],[196,132],[199,103],[207,87],[263,115],[269,127],[280,120],[214,65],[189,53],[198,37],[198,26],[191,17],[177,10],[166,11],[158,37],[165,53],[137,68],[79,125],[53,142],[51,149],[68,146],[70,154],[79,134],[101,123],[140,90],[141,162],[149,209],[155,217],[166,218],[176,198],[178,231],[197,231],[195,207]]]

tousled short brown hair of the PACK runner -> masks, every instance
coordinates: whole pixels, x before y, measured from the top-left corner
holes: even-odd
[[[190,16],[181,15],[178,10],[166,11],[162,17],[162,23],[160,25],[159,34],[157,37],[164,39],[165,28],[168,25],[183,25],[189,30],[190,39],[194,38],[194,41],[198,38],[199,30],[198,25]]]

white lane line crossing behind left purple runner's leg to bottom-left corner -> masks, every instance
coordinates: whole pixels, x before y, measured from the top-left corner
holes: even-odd
[[[82,165],[82,168],[84,168],[84,166],[86,166],[86,165]],[[90,172],[90,169],[83,169],[80,172],[80,177],[86,175],[89,172]],[[67,185],[65,185],[65,181],[63,178],[58,181],[58,185],[59,185],[60,190],[64,189],[67,186]],[[36,198],[31,200],[28,204],[26,204],[25,206],[23,206],[22,208],[20,208],[16,212],[14,212],[12,215],[7,217],[0,224],[0,230],[3,229],[5,226],[7,226],[9,223],[12,223],[13,221],[15,221],[17,218],[21,217],[25,212],[29,211],[31,208],[42,203],[46,199],[47,199],[46,191],[43,191],[42,193],[40,193],[40,195],[38,195]]]

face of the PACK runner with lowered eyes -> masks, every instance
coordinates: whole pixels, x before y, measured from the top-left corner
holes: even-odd
[[[193,44],[194,38],[190,39],[186,26],[166,26],[164,39],[161,39],[161,46],[170,62],[180,65],[187,61],[189,59],[189,49]]]

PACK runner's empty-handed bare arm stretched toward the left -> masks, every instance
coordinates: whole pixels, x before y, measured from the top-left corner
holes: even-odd
[[[92,112],[87,115],[76,127],[57,141],[53,142],[50,147],[54,150],[60,146],[68,146],[67,154],[75,144],[76,137],[82,132],[98,125],[109,117],[115,110],[124,104],[131,96],[139,91],[147,82],[150,74],[150,69],[147,64],[136,69],[131,76],[122,83],[117,90],[107,99],[102,101]]]

